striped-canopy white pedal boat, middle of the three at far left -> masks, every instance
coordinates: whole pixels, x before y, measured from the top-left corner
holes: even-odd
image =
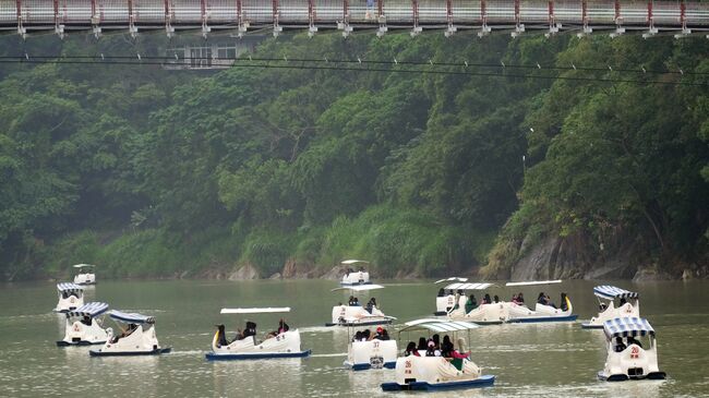
[[[108,331],[99,324],[97,316],[108,311],[108,304],[91,302],[67,313],[64,339],[57,346],[103,345],[108,340]]]

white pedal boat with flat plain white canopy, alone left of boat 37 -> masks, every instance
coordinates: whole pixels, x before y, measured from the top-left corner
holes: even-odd
[[[290,307],[263,307],[263,309],[221,309],[221,314],[267,314],[267,313],[287,313]],[[254,334],[256,325],[253,324]],[[223,326],[223,325],[219,325]],[[221,327],[221,330],[224,328]],[[283,333],[276,331],[273,337],[257,342],[256,336],[247,336],[240,340],[233,340],[230,343],[220,345],[221,330],[217,333],[212,339],[212,352],[206,353],[206,359],[209,361],[215,360],[254,360],[254,359],[271,359],[271,358],[302,358],[308,357],[311,350],[300,349],[300,331],[287,330]],[[223,341],[226,341],[224,336]]]

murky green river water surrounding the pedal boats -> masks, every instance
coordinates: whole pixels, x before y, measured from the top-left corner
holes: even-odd
[[[100,275],[99,275],[100,278]],[[437,286],[429,280],[381,281],[374,296],[398,322],[429,316]],[[608,281],[603,281],[605,284]],[[527,287],[528,301],[539,290],[558,301],[569,294],[574,312],[588,319],[597,312],[592,287],[598,281],[565,281],[554,287]],[[492,325],[472,330],[472,360],[494,387],[435,393],[434,397],[677,397],[709,395],[709,281],[661,281],[616,286],[640,292],[640,313],[656,329],[660,370],[666,381],[604,383],[596,378],[605,359],[600,330],[580,322]],[[351,372],[343,366],[347,329],[324,327],[332,306],[348,293],[332,292],[332,280],[171,280],[101,281],[87,288],[85,301],[156,317],[156,331],[172,353],[143,358],[89,358],[88,348],[58,348],[63,315],[52,313],[55,284],[7,284],[0,289],[0,396],[142,396],[142,397],[362,397],[393,396],[380,384],[394,379],[389,370]],[[512,291],[492,288],[509,299]],[[476,294],[480,297],[480,294]],[[220,315],[221,307],[291,306],[291,328],[301,331],[307,359],[207,362],[214,325],[242,327],[244,318]],[[254,317],[260,334],[275,329],[279,315]],[[106,317],[105,325],[115,326]],[[396,328],[390,327],[393,337]],[[116,329],[116,327],[115,327]],[[231,334],[228,334],[231,336]],[[399,342],[402,349],[405,342]],[[405,394],[410,395],[410,394]],[[421,395],[421,394],[419,394]]]

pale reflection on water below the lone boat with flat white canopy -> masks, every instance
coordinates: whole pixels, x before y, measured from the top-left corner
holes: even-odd
[[[219,397],[266,397],[274,391],[301,390],[304,361],[300,358],[267,359],[254,361],[212,361],[213,394]]]

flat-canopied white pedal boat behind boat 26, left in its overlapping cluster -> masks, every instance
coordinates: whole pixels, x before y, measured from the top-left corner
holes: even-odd
[[[470,312],[466,312],[468,291],[485,290],[494,286],[494,284],[489,282],[450,284],[444,288],[444,290],[448,291],[448,294],[444,298],[445,307],[438,306],[442,305],[444,301],[441,300],[441,298],[436,298],[436,313],[440,313],[441,310],[443,310],[448,319],[452,321],[473,322],[480,325],[502,324],[503,322],[507,321],[507,311],[503,303],[480,304],[472,309]],[[450,294],[450,292],[454,293]],[[450,305],[450,303],[453,305]]]

